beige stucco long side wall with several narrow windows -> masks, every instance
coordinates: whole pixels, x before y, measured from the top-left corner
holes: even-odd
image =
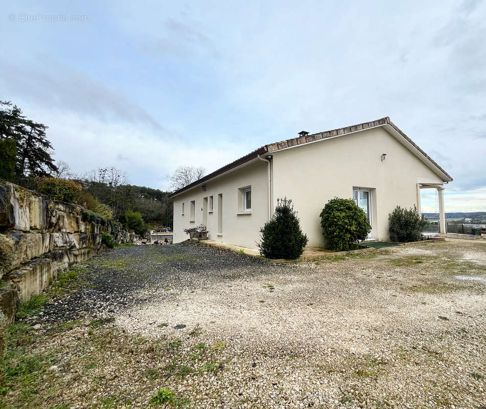
[[[203,198],[213,196],[213,212],[207,213],[208,238],[228,244],[256,248],[260,240],[260,228],[267,220],[268,183],[267,164],[257,160],[233,173],[222,176],[201,187],[174,197],[174,242],[187,240],[184,229],[203,222]],[[239,189],[251,186],[251,214],[238,214],[242,206]],[[223,194],[223,233],[218,235],[218,194]],[[195,200],[195,221],[190,221],[190,202]],[[209,200],[209,199],[208,199]],[[184,215],[182,215],[184,203]]]

